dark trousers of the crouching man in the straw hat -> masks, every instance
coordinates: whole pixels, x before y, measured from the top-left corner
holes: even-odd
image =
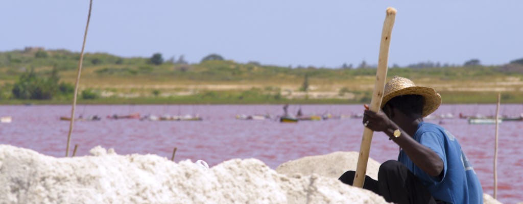
[[[345,172],[338,179],[345,184],[353,185],[356,172]],[[383,196],[387,202],[394,203],[436,203],[427,188],[402,163],[389,160],[381,164],[378,181],[365,176],[363,188]]]

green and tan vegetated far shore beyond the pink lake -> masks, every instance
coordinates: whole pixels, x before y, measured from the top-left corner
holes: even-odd
[[[26,49],[0,52],[0,102],[71,103],[79,54],[66,50]],[[389,68],[388,77],[411,78],[438,90],[444,103],[521,103],[523,59],[483,66],[470,59],[463,66],[417,63]],[[164,61],[87,53],[78,103],[368,103],[376,69],[279,67],[225,60],[218,54],[188,64],[183,55]]]

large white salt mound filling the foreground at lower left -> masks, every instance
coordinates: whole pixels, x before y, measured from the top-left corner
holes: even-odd
[[[336,178],[288,177],[256,159],[204,170],[189,160],[90,152],[54,158],[0,145],[0,203],[386,203]]]

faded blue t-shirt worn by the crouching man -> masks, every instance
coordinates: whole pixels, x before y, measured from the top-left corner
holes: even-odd
[[[397,160],[422,180],[434,198],[449,203],[483,203],[480,180],[456,137],[439,125],[421,122],[413,138],[439,155],[444,163],[441,179],[419,169],[403,150]]]

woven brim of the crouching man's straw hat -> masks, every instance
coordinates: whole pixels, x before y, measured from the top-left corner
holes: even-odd
[[[436,90],[430,87],[407,87],[404,89],[393,91],[383,96],[381,100],[381,108],[385,106],[389,100],[400,95],[422,95],[425,98],[425,104],[423,104],[423,117],[430,115],[441,104],[441,95]]]

